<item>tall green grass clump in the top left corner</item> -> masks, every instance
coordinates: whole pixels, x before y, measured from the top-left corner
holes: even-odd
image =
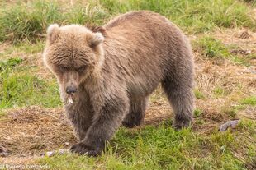
[[[12,6],[3,6],[4,3],[0,11],[0,39],[10,39],[14,43],[42,34],[47,25],[58,22],[61,17],[55,3],[18,2]]]

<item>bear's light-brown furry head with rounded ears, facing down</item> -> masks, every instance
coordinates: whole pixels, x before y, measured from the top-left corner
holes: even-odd
[[[104,59],[101,33],[82,25],[50,25],[43,53],[45,66],[58,79],[60,89],[73,96],[88,77],[97,76]]]

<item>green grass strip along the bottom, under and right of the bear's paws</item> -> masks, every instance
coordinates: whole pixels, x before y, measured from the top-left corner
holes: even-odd
[[[77,154],[45,157],[38,163],[52,169],[246,169],[255,163],[256,123],[242,121],[235,132],[201,135],[190,129],[174,131],[169,123],[142,129],[121,128],[105,154],[88,158]],[[237,150],[243,151],[237,157]]]

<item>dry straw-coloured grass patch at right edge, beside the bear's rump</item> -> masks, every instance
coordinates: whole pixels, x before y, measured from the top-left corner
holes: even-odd
[[[256,95],[255,67],[239,66],[228,60],[216,65],[209,61],[201,62],[201,59],[196,60],[196,66],[197,89],[206,96],[206,99],[197,99],[196,105],[206,112],[206,115],[213,113],[209,115],[211,120],[217,115],[216,117],[225,121],[228,118],[226,112],[238,105],[240,99]],[[215,94],[218,88],[223,90],[220,96]],[[239,111],[236,117],[256,119],[255,112],[255,107],[246,107]]]

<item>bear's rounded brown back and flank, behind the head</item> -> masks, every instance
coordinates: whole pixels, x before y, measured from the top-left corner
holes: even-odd
[[[103,27],[107,33],[103,69],[111,72],[108,76],[126,81],[134,94],[151,93],[164,71],[175,68],[175,63],[185,57],[182,51],[188,49],[183,49],[188,45],[183,32],[152,11],[131,11]]]

